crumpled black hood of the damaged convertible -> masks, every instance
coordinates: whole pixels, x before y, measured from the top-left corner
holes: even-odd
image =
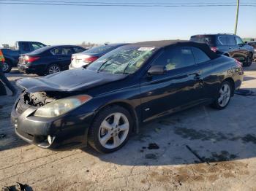
[[[39,91],[72,92],[105,85],[125,77],[127,75],[106,74],[88,69],[73,69],[46,77],[19,79],[16,84],[30,93]]]

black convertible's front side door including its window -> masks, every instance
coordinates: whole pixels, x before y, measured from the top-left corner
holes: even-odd
[[[191,47],[168,48],[151,66],[165,66],[166,72],[154,76],[145,74],[140,79],[143,121],[199,102],[203,79]]]

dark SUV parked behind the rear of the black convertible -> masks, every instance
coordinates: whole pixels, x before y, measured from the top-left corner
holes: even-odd
[[[252,64],[253,47],[235,34],[199,34],[191,36],[190,41],[206,43],[212,51],[235,58],[243,66]]]

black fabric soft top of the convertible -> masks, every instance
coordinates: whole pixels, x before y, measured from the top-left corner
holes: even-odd
[[[200,50],[208,55],[209,58],[215,59],[218,58],[219,55],[213,52],[208,44],[206,43],[197,43],[191,41],[184,40],[162,40],[162,41],[147,41],[147,42],[137,42],[130,45],[143,46],[143,47],[158,47],[158,48],[168,48],[168,47],[197,47]]]

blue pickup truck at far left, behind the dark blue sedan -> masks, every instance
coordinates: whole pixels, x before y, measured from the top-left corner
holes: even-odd
[[[3,71],[6,73],[11,71],[12,67],[16,67],[21,54],[26,54],[45,46],[46,45],[41,42],[18,41],[15,43],[15,50],[2,48],[1,51],[5,58]]]

